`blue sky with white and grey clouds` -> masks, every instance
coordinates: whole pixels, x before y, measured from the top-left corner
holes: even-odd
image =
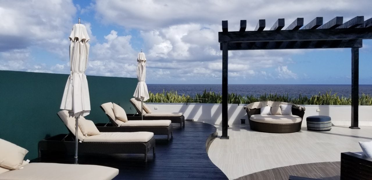
[[[70,73],[68,47],[81,18],[90,36],[87,75],[136,78],[147,58],[148,84],[221,84],[221,21],[237,31],[278,18],[285,27],[336,16],[372,17],[370,0],[0,0],[0,70]],[[372,84],[372,40],[363,40],[359,84]],[[351,84],[351,50],[229,51],[229,84]]]

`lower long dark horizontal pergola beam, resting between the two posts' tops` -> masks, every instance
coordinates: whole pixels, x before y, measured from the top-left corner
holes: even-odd
[[[291,44],[292,43],[292,44]],[[332,41],[275,41],[229,43],[228,50],[269,50],[269,49],[327,49],[362,47],[362,40],[332,40]],[[222,44],[220,44],[222,50]]]

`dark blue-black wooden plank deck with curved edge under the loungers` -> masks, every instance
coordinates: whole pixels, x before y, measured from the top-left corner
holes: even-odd
[[[79,164],[96,164],[119,169],[115,179],[207,179],[225,180],[227,177],[209,159],[206,143],[214,136],[216,128],[211,124],[186,121],[185,128],[173,126],[173,138],[155,136],[155,156],[148,153],[148,162],[143,154],[114,154],[98,156],[79,154]],[[176,126],[178,125],[178,126]],[[212,134],[212,135],[211,135]],[[51,155],[33,162],[73,163],[73,155]]]

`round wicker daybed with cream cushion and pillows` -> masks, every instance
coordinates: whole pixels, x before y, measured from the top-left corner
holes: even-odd
[[[261,108],[278,107],[281,105],[292,105],[291,114],[262,114]],[[305,107],[285,102],[260,101],[250,103],[245,107],[252,130],[266,133],[294,133],[301,130]]]

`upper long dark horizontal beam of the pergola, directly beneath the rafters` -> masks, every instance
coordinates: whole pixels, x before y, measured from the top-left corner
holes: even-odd
[[[230,31],[226,34],[218,33],[218,41],[260,42],[260,41],[306,41],[306,40],[352,40],[372,39],[372,31],[366,28],[349,29],[306,29],[281,31]]]

